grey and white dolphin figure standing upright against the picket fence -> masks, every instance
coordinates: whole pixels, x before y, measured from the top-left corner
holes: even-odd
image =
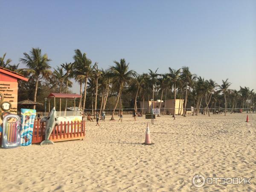
[[[49,137],[52,133],[52,130],[55,128],[55,125],[59,125],[58,119],[57,119],[57,112],[55,110],[55,107],[52,108],[52,111],[49,113],[48,117],[44,117],[41,119],[41,122],[46,122],[45,125],[45,140],[40,143],[40,145],[48,145],[48,144],[54,144],[51,140],[49,140]]]

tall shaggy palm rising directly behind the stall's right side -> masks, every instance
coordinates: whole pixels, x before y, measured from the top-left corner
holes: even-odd
[[[79,49],[75,49],[74,59],[74,70],[73,74],[75,79],[80,84],[80,95],[82,96],[82,84],[87,85],[87,78],[90,72],[91,61],[86,57],[86,53],[81,53]],[[86,88],[84,88],[86,89]],[[86,90],[84,92],[84,105],[85,105]],[[79,108],[81,108],[81,100],[79,101]]]

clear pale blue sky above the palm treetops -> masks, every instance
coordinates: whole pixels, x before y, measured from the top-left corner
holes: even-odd
[[[0,0],[0,55],[17,64],[40,47],[51,66],[74,49],[108,68],[125,58],[138,73],[189,66],[205,79],[256,90],[256,1]],[[79,87],[74,84],[73,91]]]

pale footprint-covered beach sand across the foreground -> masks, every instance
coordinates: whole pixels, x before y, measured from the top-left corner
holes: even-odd
[[[157,117],[155,145],[141,145],[150,119],[125,116],[87,122],[84,141],[1,148],[0,191],[256,191],[256,113],[246,115]],[[195,174],[252,184],[196,188]]]

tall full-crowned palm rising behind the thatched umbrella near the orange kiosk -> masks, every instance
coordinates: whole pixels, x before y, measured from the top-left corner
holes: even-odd
[[[26,67],[28,68],[21,70],[26,71],[31,75],[30,78],[35,79],[34,102],[36,102],[39,79],[47,79],[52,73],[49,70],[51,68],[49,66],[49,61],[51,61],[51,59],[48,58],[47,54],[42,55],[41,49],[39,48],[32,48],[32,50],[30,51],[30,55],[26,52],[24,52],[23,55],[24,58],[20,58],[20,61],[23,64],[26,64]]]

